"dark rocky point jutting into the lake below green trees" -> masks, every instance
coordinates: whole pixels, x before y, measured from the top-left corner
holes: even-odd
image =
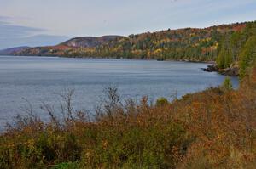
[[[226,69],[219,69],[218,65],[207,65],[207,68],[202,68],[202,70],[207,72],[216,71],[219,74],[225,75],[225,76],[239,76],[238,65],[231,65],[229,68],[226,68]]]

